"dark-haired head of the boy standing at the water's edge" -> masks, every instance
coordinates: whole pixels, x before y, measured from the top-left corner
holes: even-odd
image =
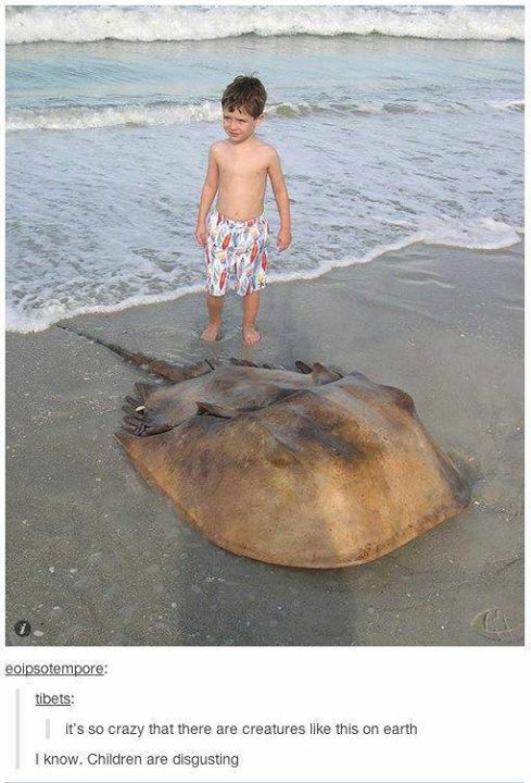
[[[235,144],[245,141],[260,125],[267,92],[255,76],[237,76],[222,96],[223,126]]]

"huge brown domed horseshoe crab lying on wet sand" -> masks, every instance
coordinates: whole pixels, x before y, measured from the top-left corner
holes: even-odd
[[[179,514],[217,546],[281,566],[339,568],[381,557],[469,501],[409,395],[298,362],[180,368],[138,383],[116,436]]]

